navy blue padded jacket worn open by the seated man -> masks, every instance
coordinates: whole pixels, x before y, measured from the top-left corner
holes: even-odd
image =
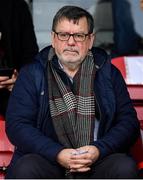
[[[45,48],[30,66],[22,68],[10,96],[6,131],[16,146],[11,165],[27,153],[40,154],[56,163],[56,155],[65,148],[58,142],[50,115],[45,74],[48,51],[49,47]],[[100,121],[93,144],[102,159],[112,153],[128,152],[139,134],[139,123],[120,72],[110,64],[105,51],[92,48],[92,52],[97,67],[95,109]],[[65,73],[61,77],[68,83]]]

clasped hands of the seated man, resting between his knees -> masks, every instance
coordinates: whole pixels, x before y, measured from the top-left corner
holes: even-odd
[[[70,172],[86,172],[98,157],[98,148],[89,145],[78,149],[63,149],[57,155],[57,161]]]

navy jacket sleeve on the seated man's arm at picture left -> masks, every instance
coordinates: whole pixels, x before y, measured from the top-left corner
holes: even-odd
[[[57,153],[63,147],[36,127],[39,98],[30,67],[22,68],[11,93],[6,113],[6,133],[19,151],[37,153],[55,162]]]

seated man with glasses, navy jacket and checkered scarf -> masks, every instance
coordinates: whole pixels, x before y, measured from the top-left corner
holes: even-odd
[[[10,179],[137,178],[128,154],[140,128],[121,73],[92,47],[93,17],[64,6],[52,46],[20,71],[10,96],[6,133],[15,152]]]

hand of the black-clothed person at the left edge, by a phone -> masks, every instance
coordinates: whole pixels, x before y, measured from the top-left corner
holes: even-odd
[[[14,83],[18,77],[18,72],[15,69],[11,78],[8,76],[0,76],[0,89],[6,88],[9,91],[12,91],[12,88],[14,86]]]

